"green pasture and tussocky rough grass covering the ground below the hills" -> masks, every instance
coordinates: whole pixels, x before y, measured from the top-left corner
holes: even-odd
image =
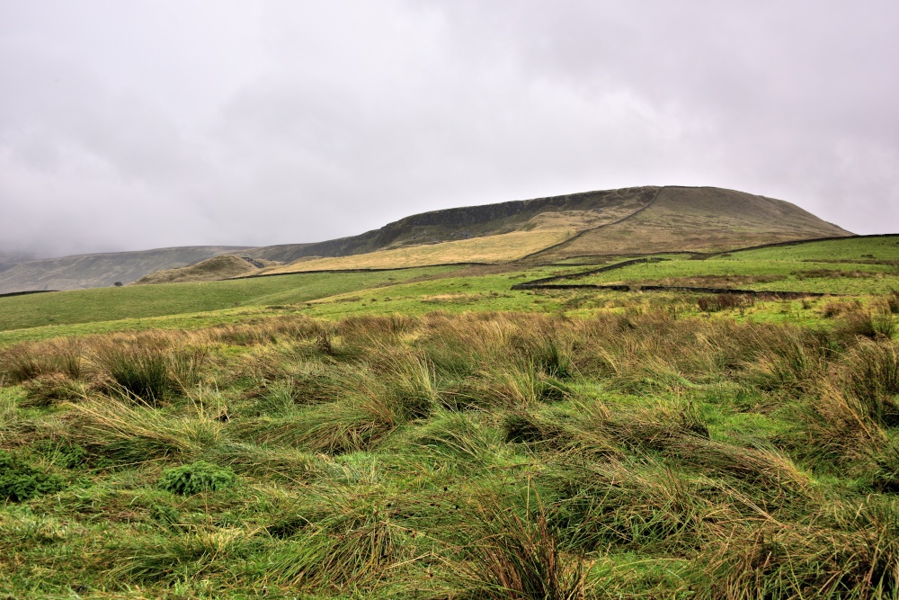
[[[0,597],[899,598],[883,242],[0,299]]]

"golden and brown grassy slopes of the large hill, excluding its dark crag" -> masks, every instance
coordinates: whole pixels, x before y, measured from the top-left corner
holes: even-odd
[[[640,193],[635,195],[635,190]],[[532,264],[547,264],[575,256],[710,252],[851,235],[794,204],[749,193],[690,187],[632,188],[615,192],[611,196],[583,194],[574,210],[541,212],[525,221],[520,217],[514,222],[506,219],[506,227],[518,228],[511,233],[341,258],[302,259],[269,271],[299,273],[463,262],[503,263],[522,258],[528,258]],[[590,201],[597,200],[601,200],[597,209],[585,209]],[[538,210],[542,208],[546,205]],[[409,219],[451,222],[441,212],[423,213]],[[395,226],[391,224],[384,229]],[[449,225],[442,227],[449,228]]]

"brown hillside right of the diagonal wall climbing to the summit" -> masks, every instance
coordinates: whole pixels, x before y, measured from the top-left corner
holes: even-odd
[[[666,186],[652,205],[535,256],[709,252],[816,237],[851,236],[787,201],[714,187]]]

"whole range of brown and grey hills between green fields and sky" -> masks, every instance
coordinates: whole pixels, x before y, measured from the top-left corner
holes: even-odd
[[[101,287],[141,278],[141,283],[187,282],[426,264],[550,263],[583,255],[709,252],[850,235],[787,201],[721,188],[645,186],[432,210],[358,236],[311,244],[163,248],[5,268],[0,260],[0,293]],[[201,263],[218,255],[236,256]],[[247,261],[264,268],[256,271]]]

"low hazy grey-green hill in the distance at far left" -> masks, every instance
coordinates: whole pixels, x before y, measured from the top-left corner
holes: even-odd
[[[99,288],[129,283],[160,269],[194,264],[244,246],[182,246],[27,261],[0,271],[0,293]]]

